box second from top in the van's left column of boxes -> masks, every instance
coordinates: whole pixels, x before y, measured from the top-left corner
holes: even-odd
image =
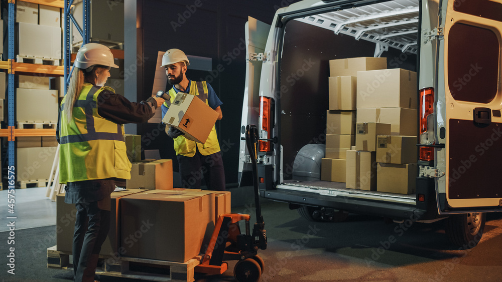
[[[329,109],[348,110],[356,109],[357,77],[337,76],[329,77]]]

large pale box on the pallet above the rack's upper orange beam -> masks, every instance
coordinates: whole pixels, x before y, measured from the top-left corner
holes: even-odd
[[[19,23],[19,55],[60,60],[61,38],[62,30],[59,27]]]

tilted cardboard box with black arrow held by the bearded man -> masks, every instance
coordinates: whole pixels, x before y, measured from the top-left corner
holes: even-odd
[[[185,138],[205,143],[218,113],[198,96],[178,93],[162,122],[181,130]]]

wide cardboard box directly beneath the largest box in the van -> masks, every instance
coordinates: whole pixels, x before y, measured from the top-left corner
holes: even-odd
[[[391,135],[418,135],[418,111],[408,108],[358,108],[357,122],[391,124]]]

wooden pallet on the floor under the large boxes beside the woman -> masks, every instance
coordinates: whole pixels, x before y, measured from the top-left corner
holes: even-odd
[[[47,249],[47,267],[73,271],[70,252],[58,251],[56,246]],[[192,282],[194,268],[200,264],[200,255],[186,261],[175,262],[138,257],[99,256],[97,275],[141,279],[146,281]]]

